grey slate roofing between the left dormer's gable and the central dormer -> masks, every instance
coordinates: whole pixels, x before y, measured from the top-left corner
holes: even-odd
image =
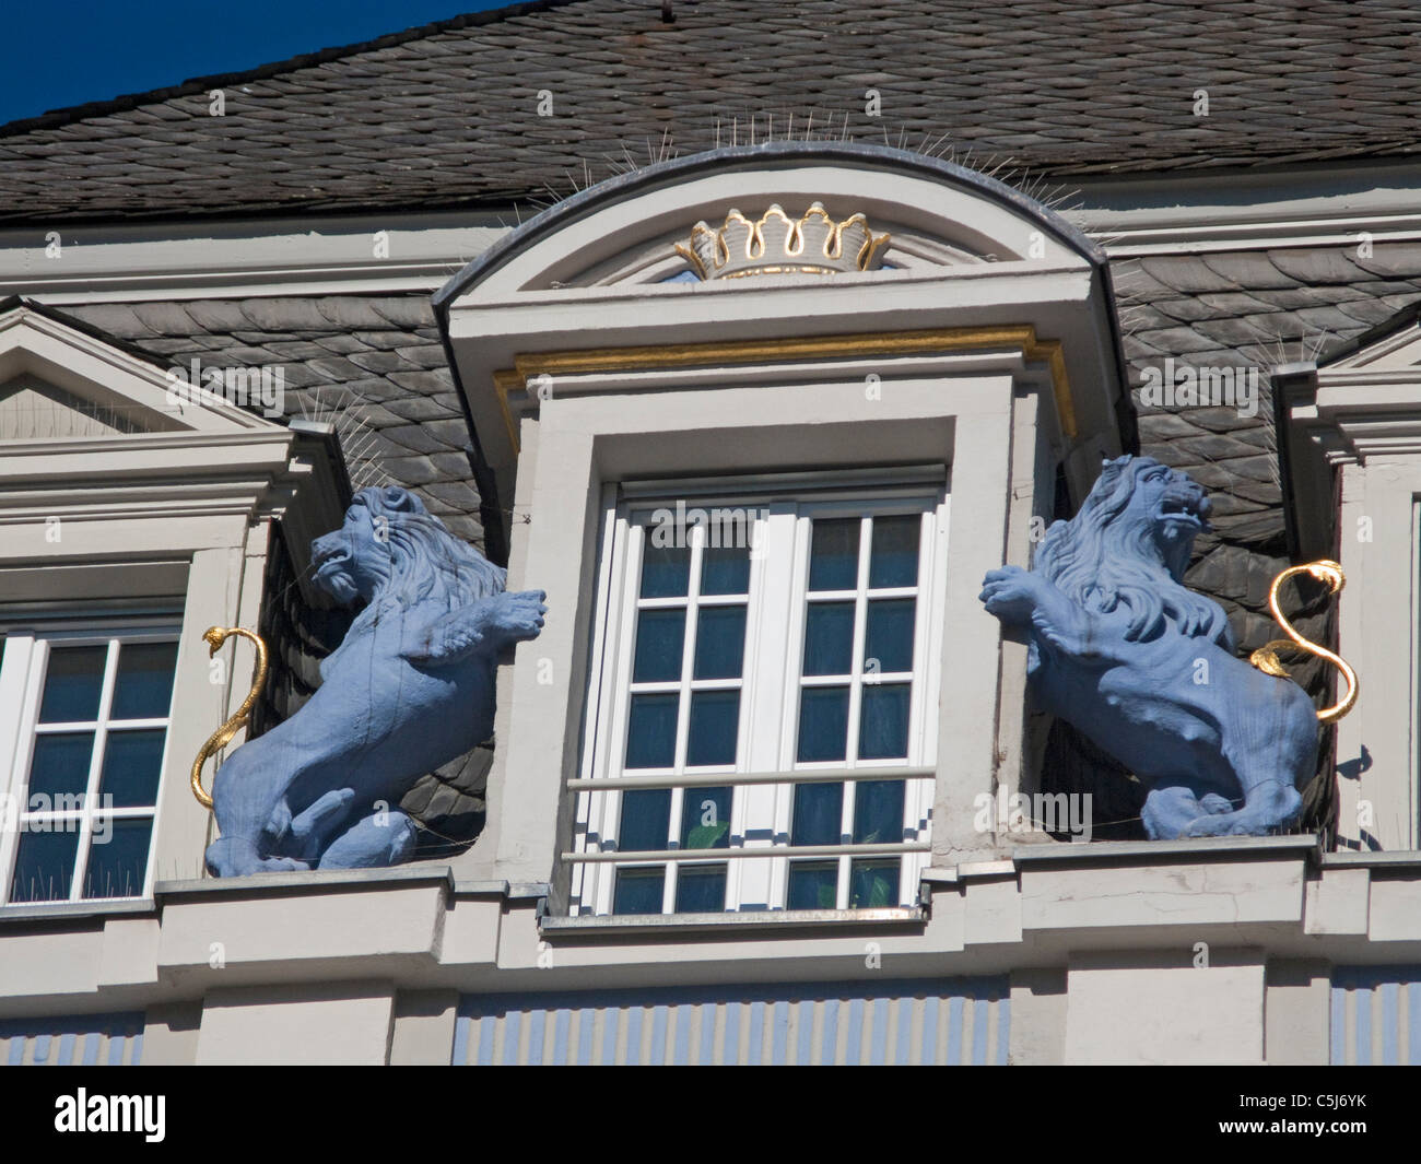
[[[186,368],[281,368],[288,416],[333,419],[358,489],[408,486],[483,544],[469,429],[423,294],[65,304],[64,316]]]

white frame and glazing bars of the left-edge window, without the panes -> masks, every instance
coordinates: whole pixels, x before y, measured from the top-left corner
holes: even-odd
[[[162,806],[162,773],[168,769],[168,749],[172,743],[172,702],[176,698],[176,674],[173,695],[169,699],[168,715],[149,719],[112,721],[109,712],[114,701],[114,686],[118,678],[118,651],[122,644],[132,642],[178,642],[178,620],[153,620],[131,624],[114,621],[65,621],[60,627],[4,628],[4,657],[0,661],[0,792],[6,793],[0,809],[0,907],[14,908],[58,905],[80,901],[124,901],[145,900],[153,893],[155,853],[159,816]],[[48,669],[53,647],[107,647],[104,679],[99,695],[98,715],[94,721],[64,723],[40,723],[40,702],[44,694],[44,678]],[[159,786],[152,806],[131,806],[104,809],[98,799],[98,787],[104,773],[104,758],[111,725],[122,723],[119,731],[162,728],[163,755],[159,766]],[[85,785],[82,809],[60,812],[30,812],[30,766],[34,743],[40,735],[63,732],[94,732],[94,748],[90,755],[90,773]],[[84,877],[88,868],[90,843],[95,820],[101,816],[112,820],[151,819],[148,837],[148,858],[145,861],[144,884],[139,893],[119,897],[84,897]],[[20,836],[26,826],[37,821],[64,821],[78,829],[74,880],[65,898],[11,902],[14,863],[18,856]]]

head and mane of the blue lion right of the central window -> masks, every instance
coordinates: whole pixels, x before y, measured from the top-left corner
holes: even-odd
[[[1084,610],[1127,610],[1127,641],[1172,627],[1232,645],[1223,608],[1181,584],[1208,514],[1204,487],[1185,473],[1147,456],[1107,460],[1080,513],[1046,532],[1033,568]]]

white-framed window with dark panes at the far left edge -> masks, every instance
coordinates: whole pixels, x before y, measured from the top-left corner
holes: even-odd
[[[173,628],[13,634],[0,661],[0,902],[142,897]]]

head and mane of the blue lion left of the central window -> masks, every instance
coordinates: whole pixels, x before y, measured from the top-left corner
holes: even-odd
[[[504,571],[405,489],[362,489],[345,523],[311,543],[315,586],[338,604],[367,603],[352,632],[381,610],[453,610],[504,587]]]

